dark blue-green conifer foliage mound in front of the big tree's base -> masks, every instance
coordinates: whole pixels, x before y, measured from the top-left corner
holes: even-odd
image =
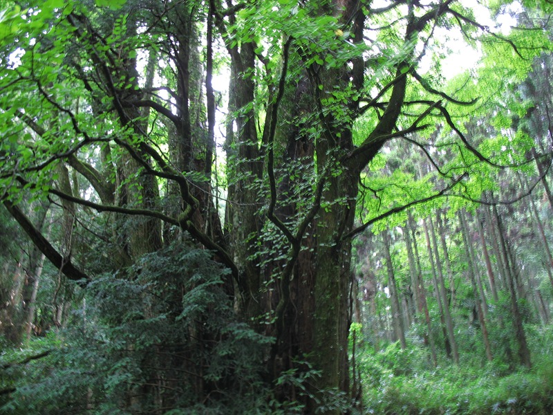
[[[12,364],[50,350],[1,378],[17,389],[3,413],[147,414],[163,405],[226,414],[264,405],[261,359],[271,340],[236,320],[227,271],[208,251],[171,246],[126,275],[95,279],[68,329],[3,353]]]

